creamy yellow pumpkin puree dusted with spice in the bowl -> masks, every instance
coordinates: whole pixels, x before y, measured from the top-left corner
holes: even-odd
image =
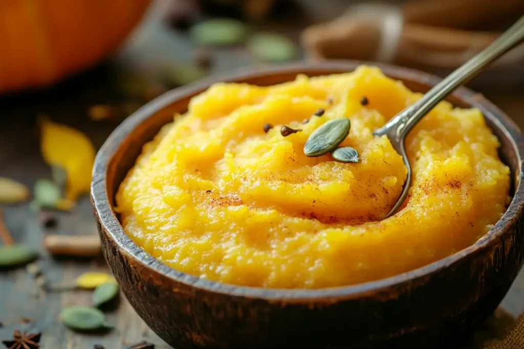
[[[322,288],[423,266],[473,244],[501,217],[509,168],[479,110],[440,103],[406,141],[407,204],[380,220],[407,171],[372,132],[419,97],[368,66],[270,87],[214,84],[145,145],[116,210],[152,256],[228,284]],[[325,114],[312,116],[319,108]],[[305,156],[311,132],[343,117],[351,130],[341,145],[361,162]],[[265,133],[265,123],[274,128]],[[282,137],[283,125],[302,131]]]

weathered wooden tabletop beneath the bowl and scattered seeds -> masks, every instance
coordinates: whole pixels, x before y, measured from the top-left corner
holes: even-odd
[[[313,3],[314,2],[311,2]],[[49,178],[50,169],[39,152],[36,116],[47,114],[53,121],[63,122],[88,134],[96,148],[117,126],[118,121],[91,121],[86,115],[88,106],[109,103],[115,92],[108,85],[108,73],[115,66],[128,69],[154,71],[172,60],[188,61],[193,47],[182,34],[168,30],[159,20],[162,5],[153,8],[143,25],[128,45],[107,64],[74,77],[43,92],[24,93],[0,98],[0,176],[18,179],[32,187],[38,178]],[[328,14],[317,11],[321,19]],[[322,16],[324,18],[322,18]],[[297,26],[286,28],[289,35],[297,38]],[[154,52],[154,54],[152,54]],[[254,61],[243,49],[216,52],[216,71],[234,69]],[[482,91],[492,99],[521,128],[524,127],[524,88],[513,91]],[[28,204],[2,207],[5,222],[16,242],[41,246],[46,233],[96,234],[89,198],[84,196],[71,213],[59,214],[59,225],[54,230],[40,226],[38,217],[29,210]],[[95,260],[54,259],[39,247],[42,267],[50,283],[71,282],[86,271],[107,271],[102,258]],[[66,329],[59,321],[60,310],[70,305],[90,305],[91,291],[43,292],[35,284],[34,277],[24,268],[0,272],[0,340],[9,339],[14,329],[41,331],[43,349],[92,348],[102,344],[106,348],[125,348],[130,344],[147,340],[157,348],[168,347],[137,316],[125,299],[116,310],[108,312],[108,321],[115,329],[105,334],[78,334]],[[524,311],[524,273],[501,303],[499,311],[486,322],[472,340],[480,343],[490,336],[501,336],[514,317]],[[21,318],[31,321],[25,323]],[[476,344],[478,345],[478,344]],[[472,344],[468,347],[475,347]]]

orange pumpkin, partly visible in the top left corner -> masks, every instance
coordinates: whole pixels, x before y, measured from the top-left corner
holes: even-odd
[[[150,0],[0,1],[0,93],[45,86],[112,53]]]

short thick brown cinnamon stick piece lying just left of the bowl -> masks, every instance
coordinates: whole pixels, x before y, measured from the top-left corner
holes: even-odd
[[[43,246],[52,255],[95,257],[102,253],[98,235],[47,234]]]

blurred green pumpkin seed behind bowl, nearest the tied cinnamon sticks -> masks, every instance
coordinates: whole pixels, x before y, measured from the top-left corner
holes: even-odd
[[[289,61],[297,55],[297,48],[290,39],[274,33],[253,35],[248,47],[259,60],[265,62]]]

